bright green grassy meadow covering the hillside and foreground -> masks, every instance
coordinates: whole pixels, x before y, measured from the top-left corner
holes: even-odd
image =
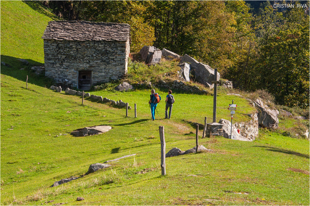
[[[23,24],[17,21],[19,15],[25,16]],[[81,105],[78,96],[49,90],[52,80],[36,76],[30,67],[43,63],[41,35],[53,19],[35,4],[1,1],[1,40],[7,40],[1,42],[1,62],[12,66],[1,64],[1,205],[309,205],[309,140],[282,134],[300,123],[290,119],[280,118],[280,130],[259,129],[253,142],[201,138],[200,130],[199,144],[214,152],[166,158],[167,174],[162,177],[158,127],[165,128],[166,152],[173,147],[183,151],[194,147],[195,129],[189,121],[203,124],[205,116],[211,121],[213,96],[174,91],[171,119],[163,119],[162,100],[157,107],[161,119],[156,113],[156,121],[151,121],[149,90],[91,91],[128,102],[132,109],[127,118],[123,108],[90,99]],[[34,28],[25,29],[24,25],[33,24]],[[21,29],[24,37],[13,32]],[[36,49],[26,40],[37,45]],[[29,60],[30,65],[18,58]],[[165,99],[166,90],[157,92]],[[248,121],[246,114],[255,108],[221,89],[217,121],[230,119],[227,107],[232,99],[238,105],[233,121]],[[94,125],[113,129],[88,137],[70,135]],[[90,164],[129,154],[136,155],[50,187],[62,178],[85,174]],[[77,197],[84,200],[76,201]]]

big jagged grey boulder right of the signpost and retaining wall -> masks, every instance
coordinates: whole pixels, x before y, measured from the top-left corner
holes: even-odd
[[[279,111],[270,109],[260,98],[256,99],[254,104],[258,111],[257,116],[259,125],[266,128],[277,128],[279,125],[279,119],[277,118]]]

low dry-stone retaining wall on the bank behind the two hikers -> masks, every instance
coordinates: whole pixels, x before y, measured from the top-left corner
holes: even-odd
[[[167,89],[177,89],[177,90],[184,90],[188,92],[194,92],[194,93],[205,93],[208,92],[206,90],[201,90],[198,86],[194,85],[187,85],[183,81],[175,80],[173,82],[166,82],[164,80],[161,80],[157,83],[158,87],[164,87]]]

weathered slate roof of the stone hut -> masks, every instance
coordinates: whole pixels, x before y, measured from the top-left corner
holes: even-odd
[[[129,30],[129,24],[90,21],[50,21],[42,39],[126,42],[130,38]]]

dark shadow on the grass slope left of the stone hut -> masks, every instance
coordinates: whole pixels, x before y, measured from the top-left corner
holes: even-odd
[[[32,70],[31,67],[33,66],[43,66],[42,63],[33,61],[31,59],[26,59],[29,64],[23,64],[18,60],[18,58],[1,55],[1,62],[5,62],[6,64],[9,64],[11,67],[4,66],[1,64],[1,74],[14,77],[20,81],[26,82],[26,78],[28,75],[28,83],[42,86],[42,87],[49,87],[52,85],[53,80],[50,78],[47,78],[43,75],[36,75]],[[24,68],[21,70],[21,68]],[[25,83],[26,86],[26,83]],[[30,85],[28,85],[28,88]],[[29,88],[31,89],[31,88]]]

